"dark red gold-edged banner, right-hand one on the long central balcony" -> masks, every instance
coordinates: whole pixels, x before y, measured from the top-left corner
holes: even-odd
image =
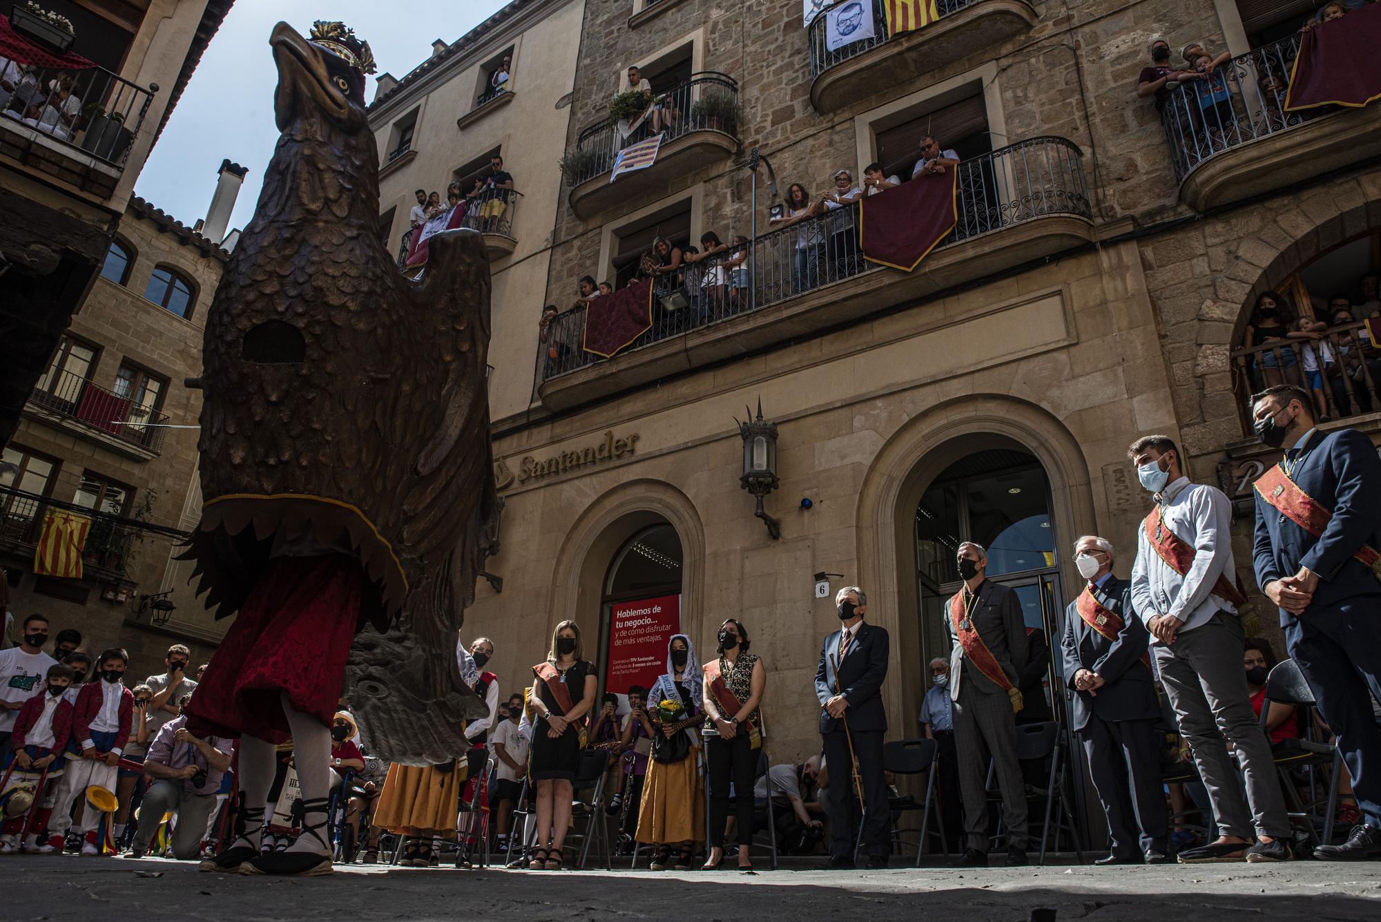
[[[956,167],[918,175],[859,202],[859,247],[869,262],[910,272],[958,224]]]

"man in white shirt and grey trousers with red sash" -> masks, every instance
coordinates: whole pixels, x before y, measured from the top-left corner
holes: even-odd
[[[1137,536],[1132,606],[1150,631],[1156,669],[1218,823],[1218,838],[1181,852],[1179,861],[1287,861],[1290,818],[1242,668],[1232,504],[1222,490],[1189,482],[1170,436],[1143,436],[1127,457],[1156,500]]]

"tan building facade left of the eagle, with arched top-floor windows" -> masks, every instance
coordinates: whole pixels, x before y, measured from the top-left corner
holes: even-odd
[[[133,197],[101,276],[4,449],[4,460],[21,469],[0,480],[21,491],[0,496],[10,609],[47,614],[54,632],[77,628],[93,654],[126,647],[131,674],[160,671],[171,643],[189,645],[204,663],[224,632],[189,598],[174,598],[174,611],[153,602],[174,588],[175,533],[196,522],[186,507],[199,494],[202,398],[184,381],[202,371],[206,311],[226,258],[215,243]],[[173,300],[164,302],[170,287]],[[44,513],[70,508],[33,496],[91,515],[81,578],[33,571]]]

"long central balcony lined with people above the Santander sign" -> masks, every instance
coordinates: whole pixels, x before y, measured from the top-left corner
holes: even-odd
[[[958,160],[934,138],[921,141],[921,157],[913,152],[903,161],[907,182],[939,182],[946,190],[953,184],[953,228],[924,255],[923,271],[880,265],[860,244],[860,199],[902,185],[882,164],[870,164],[858,184],[848,170],[837,171],[823,197],[791,184],[755,239],[721,239],[710,230],[692,242],[689,210],[679,221],[659,217],[630,233],[634,246],[620,247],[612,279],[586,276],[568,309],[545,308],[536,367],[543,404],[568,409],[819,335],[1092,239],[1090,193],[1073,142],[1032,138]],[[630,341],[610,341],[601,319],[599,335],[587,335],[590,312],[612,304],[601,300],[639,280],[652,286],[646,328],[634,324]]]

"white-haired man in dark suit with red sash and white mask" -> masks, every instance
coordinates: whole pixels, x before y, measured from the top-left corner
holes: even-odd
[[[1088,773],[1108,814],[1108,857],[1094,864],[1166,864],[1170,823],[1160,784],[1160,718],[1131,587],[1113,576],[1113,545],[1088,534],[1074,544],[1088,580],[1065,609],[1059,647],[1072,692],[1069,719],[1084,741]]]

